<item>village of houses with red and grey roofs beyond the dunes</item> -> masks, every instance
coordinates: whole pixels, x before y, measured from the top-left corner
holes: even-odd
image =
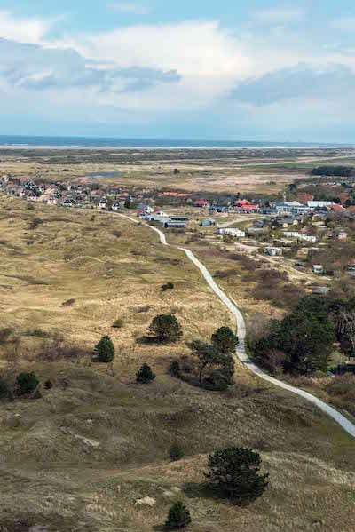
[[[90,179],[48,183],[4,174],[0,191],[28,203],[60,209],[134,211],[142,221],[164,230],[198,231],[210,243],[233,244],[243,253],[279,258],[280,264],[288,261],[288,266],[301,272],[306,268],[328,277],[338,272],[317,261],[317,254],[327,249],[329,242],[346,242],[355,217],[349,194],[339,194],[335,201],[319,200],[302,188],[293,194],[292,201],[287,201],[286,193],[283,201],[278,201],[269,197],[247,199],[240,194],[201,197],[201,193],[142,190]],[[341,273],[355,277],[355,256]]]

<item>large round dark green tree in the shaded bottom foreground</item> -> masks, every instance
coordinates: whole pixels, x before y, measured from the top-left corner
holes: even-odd
[[[261,457],[251,449],[230,447],[209,455],[209,486],[235,502],[253,502],[268,486],[269,474],[259,474]]]

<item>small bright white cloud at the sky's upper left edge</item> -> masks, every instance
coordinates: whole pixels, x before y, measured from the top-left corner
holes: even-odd
[[[10,12],[0,11],[0,38],[18,43],[39,43],[55,20],[18,19]]]

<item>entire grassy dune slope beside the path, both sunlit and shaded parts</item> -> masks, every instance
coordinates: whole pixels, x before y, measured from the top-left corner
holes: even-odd
[[[12,383],[28,369],[54,384],[36,401],[0,404],[0,529],[162,531],[180,499],[191,532],[355,529],[354,442],[319,410],[240,364],[225,393],[166,375],[186,341],[233,326],[184,254],[114,215],[29,210],[5,196],[0,230],[1,375]],[[197,255],[212,271],[225,267],[209,246]],[[165,282],[175,290],[160,291]],[[237,287],[232,295],[243,301],[241,278]],[[139,344],[165,312],[182,323],[182,341]],[[113,329],[118,318],[122,329]],[[91,361],[105,334],[116,347],[113,367]],[[52,345],[71,355],[51,360]],[[142,361],[157,373],[151,385],[134,382]],[[185,457],[172,464],[175,441]],[[271,483],[255,504],[235,506],[204,488],[209,452],[227,444],[262,454]]]

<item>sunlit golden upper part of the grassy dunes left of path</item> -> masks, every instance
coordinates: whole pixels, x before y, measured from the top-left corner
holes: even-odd
[[[164,248],[143,225],[98,212],[28,210],[26,202],[2,196],[0,231],[2,328],[20,341],[5,345],[10,359],[36,358],[58,337],[92,353],[108,334],[116,364],[130,372],[140,358],[185,353],[187,341],[233,325],[185,255]],[[162,292],[170,281],[175,289]],[[170,313],[183,326],[180,343],[169,350],[137,344],[155,315]],[[117,319],[121,329],[112,327]]]

